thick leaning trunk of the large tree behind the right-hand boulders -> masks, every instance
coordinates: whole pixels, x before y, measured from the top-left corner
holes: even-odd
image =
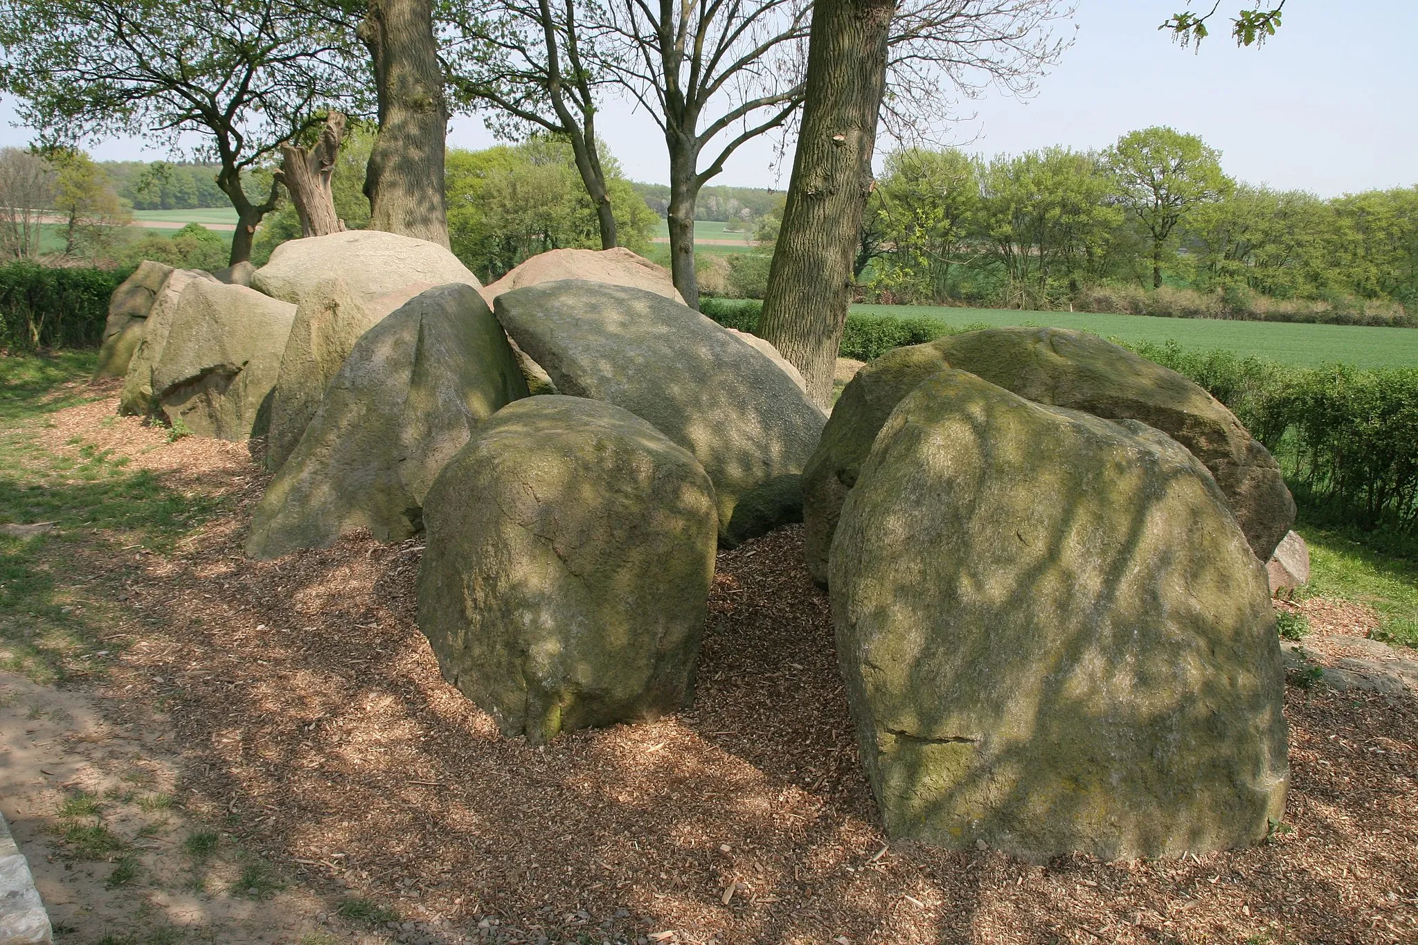
[[[832,402],[852,262],[872,188],[886,37],[896,0],[817,0],[807,99],[759,332]]]

